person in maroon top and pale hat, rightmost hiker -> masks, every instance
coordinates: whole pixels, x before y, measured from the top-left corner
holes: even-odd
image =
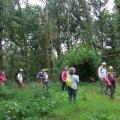
[[[108,94],[108,89],[110,89],[110,97],[114,98],[116,88],[116,73],[113,71],[113,67],[109,67],[109,71],[107,73],[107,79],[106,79],[106,91],[105,94]]]

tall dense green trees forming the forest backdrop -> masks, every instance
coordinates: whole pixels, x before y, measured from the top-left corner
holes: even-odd
[[[119,70],[120,2],[114,11],[109,0],[41,0],[45,7],[31,6],[29,0],[0,0],[0,70],[13,77],[23,68],[27,78],[41,68],[56,71],[65,50],[85,44]]]

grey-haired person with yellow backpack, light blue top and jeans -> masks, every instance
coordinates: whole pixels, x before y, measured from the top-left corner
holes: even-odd
[[[75,74],[75,68],[71,67],[69,69],[69,78],[66,81],[66,84],[68,86],[68,97],[70,102],[76,101],[78,82],[79,82],[79,77]]]

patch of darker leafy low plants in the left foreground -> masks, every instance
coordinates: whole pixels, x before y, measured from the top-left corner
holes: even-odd
[[[5,120],[31,120],[36,114],[40,118],[48,116],[57,103],[52,98],[51,92],[30,85],[25,90],[17,89],[10,84],[6,89],[0,90],[0,111]]]

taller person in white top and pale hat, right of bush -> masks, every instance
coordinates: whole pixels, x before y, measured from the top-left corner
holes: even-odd
[[[103,94],[103,87],[106,75],[107,75],[106,62],[103,62],[102,65],[98,68],[98,77],[100,80],[101,94]]]

